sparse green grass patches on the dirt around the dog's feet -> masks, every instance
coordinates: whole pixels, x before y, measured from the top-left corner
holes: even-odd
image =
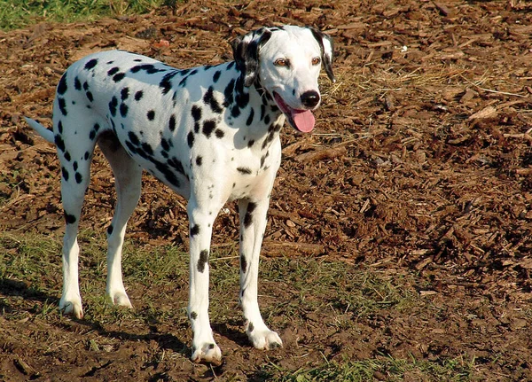
[[[143,247],[127,241],[123,251],[124,283],[134,310],[113,307],[105,298],[106,237],[83,230],[79,238],[80,276],[85,319],[95,328],[120,327],[143,332],[153,324],[168,331],[189,331],[185,314],[188,294],[188,253],[175,246]],[[42,235],[0,235],[0,315],[12,322],[41,319],[63,322],[57,308],[61,289],[60,238]],[[239,322],[239,261],[236,250],[211,256],[211,321]],[[409,276],[387,275],[375,269],[356,269],[343,262],[309,259],[262,261],[260,299],[265,319],[274,327],[305,327],[308,316],[318,315],[324,331],[355,332],[358,321],[379,313],[418,308],[418,295]],[[169,302],[168,302],[169,301]],[[4,307],[4,312],[2,312]],[[339,319],[339,317],[346,317]],[[183,334],[180,334],[183,335]],[[106,346],[105,337],[87,339],[87,349]],[[320,351],[318,342],[306,346]],[[249,349],[245,349],[248,351]],[[186,356],[186,349],[183,351]],[[272,354],[272,357],[275,355]],[[282,358],[265,357],[252,365],[254,380],[269,381],[468,381],[473,361],[398,359],[377,355],[350,359],[341,355],[321,363],[301,359],[296,369],[282,366]],[[294,366],[293,366],[294,367]],[[378,378],[379,377],[379,378]]]

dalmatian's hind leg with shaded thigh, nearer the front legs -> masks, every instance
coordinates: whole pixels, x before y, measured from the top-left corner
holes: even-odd
[[[113,221],[107,228],[106,293],[113,304],[132,308],[122,282],[121,250],[127,222],[140,198],[142,168],[129,157],[113,133],[102,134],[98,146],[113,169],[116,188]]]

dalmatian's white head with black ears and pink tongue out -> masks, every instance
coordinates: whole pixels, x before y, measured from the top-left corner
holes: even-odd
[[[232,43],[244,85],[255,82],[275,100],[293,128],[314,128],[315,110],[321,95],[317,77],[323,64],[332,74],[332,39],[312,27],[262,27]]]

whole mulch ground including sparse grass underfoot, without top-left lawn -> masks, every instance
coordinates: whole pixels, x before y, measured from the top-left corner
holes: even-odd
[[[268,380],[331,365],[348,379],[342,368],[360,363],[362,380],[532,380],[531,11],[517,0],[200,1],[0,33],[0,379]],[[136,308],[98,300],[114,203],[99,153],[82,220],[82,251],[98,253],[82,255],[87,315],[61,316],[58,160],[21,117],[50,126],[60,75],[90,52],[216,64],[231,38],[286,23],[332,35],[338,81],[322,78],[314,134],[283,130],[260,292],[285,347],[246,343],[231,204],[213,238],[224,363],[188,361],[185,201],[148,175],[124,266]]]

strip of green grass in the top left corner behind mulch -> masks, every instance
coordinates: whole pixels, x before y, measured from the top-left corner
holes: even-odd
[[[152,11],[176,0],[0,0],[0,29],[27,27],[36,22],[91,21]]]

